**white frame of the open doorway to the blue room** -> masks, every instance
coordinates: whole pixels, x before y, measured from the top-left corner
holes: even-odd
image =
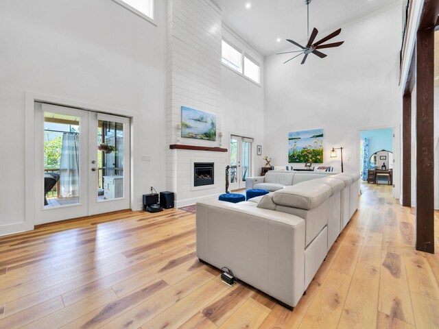
[[[359,163],[359,141],[360,141],[360,133],[363,130],[379,130],[379,129],[392,129],[394,138],[393,138],[393,197],[395,199],[400,199],[401,192],[401,129],[397,125],[372,125],[366,127],[357,127],[357,138],[355,143],[355,163],[357,166]]]

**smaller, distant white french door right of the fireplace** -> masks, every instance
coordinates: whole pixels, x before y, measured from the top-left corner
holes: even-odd
[[[252,170],[252,142],[252,138],[230,136],[230,191],[246,188]]]

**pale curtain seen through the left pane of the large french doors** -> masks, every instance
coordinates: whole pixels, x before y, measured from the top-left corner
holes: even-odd
[[[77,197],[80,188],[79,134],[64,132],[60,161],[60,197]]]

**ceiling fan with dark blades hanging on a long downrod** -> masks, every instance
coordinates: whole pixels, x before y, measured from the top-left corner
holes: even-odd
[[[333,43],[327,43],[326,45],[322,45],[322,43],[327,42],[328,40],[334,38],[335,36],[338,36],[340,34],[340,32],[342,32],[342,29],[337,29],[337,31],[329,34],[329,36],[325,36],[321,40],[318,40],[317,42],[313,43],[314,40],[316,39],[317,34],[318,34],[318,29],[316,29],[316,27],[314,27],[313,32],[311,32],[311,36],[309,36],[309,3],[310,2],[311,2],[311,0],[305,0],[305,3],[307,4],[307,18],[308,18],[308,43],[307,43],[306,47],[303,47],[302,45],[298,44],[298,42],[287,39],[288,42],[291,42],[293,45],[300,47],[300,50],[283,52],[283,53],[299,53],[298,55],[296,55],[293,58],[290,58],[289,60],[284,62],[283,64],[289,62],[290,60],[294,60],[294,58],[296,58],[302,54],[305,54],[305,57],[303,58],[303,60],[300,64],[305,64],[305,61],[307,60],[307,57],[310,53],[313,53],[314,55],[316,55],[320,58],[325,58],[325,57],[327,57],[327,55],[318,51],[318,49],[338,47],[338,46],[342,45],[344,42],[344,41],[340,41],[340,42],[333,42]],[[276,53],[276,55],[281,55],[283,53]]]

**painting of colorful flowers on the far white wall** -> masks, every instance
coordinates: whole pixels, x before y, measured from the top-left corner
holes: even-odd
[[[288,133],[289,163],[322,163],[323,130],[302,130]]]

